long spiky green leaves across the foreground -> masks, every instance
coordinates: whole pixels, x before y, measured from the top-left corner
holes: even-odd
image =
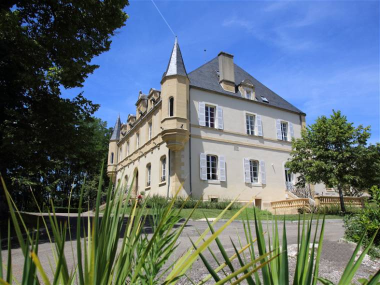
[[[147,216],[142,214],[143,209],[146,206],[146,200],[141,208],[137,207],[136,201],[131,207],[123,206],[124,195],[121,194],[122,190],[120,189],[120,185],[116,185],[115,191],[112,193],[112,185],[110,184],[107,189],[105,210],[103,216],[100,218],[99,205],[102,184],[101,177],[102,175],[100,175],[99,178],[95,215],[92,219],[90,219],[89,216],[87,218],[87,229],[83,231],[83,242],[80,242],[80,240],[76,242],[76,255],[73,254],[74,248],[71,247],[72,254],[74,255],[72,270],[68,265],[68,259],[66,259],[67,257],[64,251],[65,244],[69,244],[65,241],[67,239],[72,241],[70,224],[58,224],[57,218],[54,214],[53,204],[53,212],[48,216],[48,221],[42,216],[42,224],[47,230],[49,241],[51,243],[51,250],[54,256],[53,262],[55,264],[50,264],[50,269],[53,275],[52,280],[47,277],[47,265],[41,264],[38,257],[39,223],[37,222],[36,231],[29,231],[27,229],[1,177],[17,240],[21,247],[21,251],[24,254],[21,283],[39,284],[43,282],[46,285],[50,283],[172,284],[181,277],[190,279],[190,277],[186,275],[186,271],[193,265],[198,256],[210,273],[200,282],[200,284],[211,278],[214,279],[216,284],[224,284],[227,282],[237,284],[243,280],[246,280],[248,284],[289,283],[291,276],[289,276],[288,257],[287,251],[285,250],[285,248],[287,248],[285,222],[283,222],[282,238],[278,234],[277,220],[275,219],[272,222],[272,234],[270,237],[270,230],[267,228],[266,233],[268,234],[268,242],[266,242],[264,238],[265,232],[262,228],[260,217],[256,215],[255,208],[253,207],[254,231],[256,236],[253,238],[253,228],[251,228],[250,225],[251,221],[249,220],[247,213],[248,204],[246,204],[231,218],[222,222],[221,225],[218,225],[216,229],[215,223],[223,213],[227,211],[227,208],[232,202],[234,202],[232,201],[214,221],[209,222],[207,220],[208,227],[203,232],[199,232],[197,240],[190,239],[192,246],[190,246],[178,259],[172,261],[172,258],[170,257],[176,248],[177,239],[191,216],[190,213],[186,220],[177,226],[180,220],[179,212],[183,207],[180,207],[179,209],[173,208],[173,204],[180,188],[176,191],[175,195],[166,206],[161,207],[153,204],[153,214]],[[83,186],[80,193],[79,209],[82,198]],[[126,197],[126,199],[128,198],[129,196]],[[130,214],[126,218],[125,214],[127,210]],[[244,211],[246,219],[243,222],[243,227],[246,244],[243,245],[241,243],[242,238],[240,236],[237,236],[238,244],[235,244],[231,239],[235,253],[232,256],[228,256],[224,247],[225,245],[221,244],[218,236],[238,215],[244,213]],[[18,222],[17,215],[19,215],[20,223]],[[82,219],[83,217],[78,214],[76,221],[77,238],[80,237],[81,228],[82,225],[84,225],[82,224]],[[51,234],[47,228],[47,222],[51,227]],[[315,232],[313,234],[311,220],[305,221],[303,219],[303,222],[301,223],[298,218],[298,246],[296,268],[293,276],[294,284],[314,285],[317,280],[323,284],[332,284],[330,281],[318,277],[318,266],[323,242],[324,218],[320,227],[319,239],[316,243],[318,224],[319,220],[317,221]],[[146,225],[149,225],[151,233],[150,230],[145,231]],[[22,236],[21,228],[25,231],[26,240]],[[4,266],[4,269],[6,269],[6,274],[4,276],[2,275],[3,264],[2,260],[0,260],[1,284],[10,284],[12,282],[18,283],[12,275],[9,232],[10,226],[8,225],[8,258],[5,262],[6,266]],[[355,271],[367,253],[374,237],[368,242],[368,246],[364,248],[357,260],[354,260],[364,239],[365,233],[366,230],[364,230],[351,259],[348,261],[339,284],[347,284],[351,282]],[[119,242],[120,238],[122,240],[121,242]],[[54,242],[52,239],[54,239]],[[220,251],[222,258],[224,259],[223,263],[220,263],[217,260],[216,254],[211,249],[211,244],[213,242],[216,242],[216,248]],[[310,242],[312,242],[311,248],[309,248]],[[254,246],[254,243],[256,243],[256,246]],[[258,255],[255,253],[255,248],[258,249]],[[212,257],[218,263],[217,268],[212,268],[210,263],[206,260],[203,255],[204,250],[208,250],[211,253]],[[232,264],[232,260],[234,259],[237,259],[238,264],[240,265],[239,267]],[[228,267],[228,270],[225,270],[226,267]],[[258,274],[259,270],[261,271],[260,274]],[[362,279],[361,281],[364,284],[374,284],[379,281],[379,279],[380,270],[375,275],[371,276],[369,280]],[[192,280],[190,281],[194,283]]]

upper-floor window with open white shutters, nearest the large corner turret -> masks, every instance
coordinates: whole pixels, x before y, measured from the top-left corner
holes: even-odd
[[[223,129],[223,110],[221,106],[198,102],[199,125]]]

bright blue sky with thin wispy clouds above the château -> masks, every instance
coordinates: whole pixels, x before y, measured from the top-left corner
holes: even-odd
[[[226,51],[303,110],[306,122],[340,109],[380,141],[379,1],[155,1],[178,36],[187,72]],[[159,89],[174,37],[151,1],[130,1],[126,25],[80,91],[113,126],[138,91]],[[206,51],[204,51],[206,49]]]

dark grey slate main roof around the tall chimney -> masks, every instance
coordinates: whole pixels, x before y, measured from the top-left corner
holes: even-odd
[[[286,110],[304,113],[297,107],[290,104],[288,101],[274,93],[264,84],[257,81],[252,75],[243,70],[237,64],[234,65],[234,73],[235,73],[235,84],[239,84],[244,79],[249,79],[255,86],[255,94],[257,101],[263,102],[264,104],[272,105],[275,107],[280,107]],[[219,61],[218,57],[211,59],[210,61],[204,63],[199,66],[195,70],[188,73],[188,78],[190,79],[190,86],[196,86],[207,90],[212,90],[224,94],[228,94],[231,96],[241,97],[240,92],[235,90],[235,93],[224,91],[223,88],[219,84],[219,76],[216,70],[219,70]],[[264,102],[260,96],[265,96],[268,99],[268,103]]]

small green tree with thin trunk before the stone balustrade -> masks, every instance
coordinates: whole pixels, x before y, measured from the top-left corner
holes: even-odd
[[[343,189],[363,181],[364,168],[373,171],[373,165],[360,164],[362,155],[368,153],[366,141],[370,127],[354,127],[340,111],[332,112],[329,118],[318,117],[315,123],[302,129],[301,138],[293,139],[286,166],[299,173],[299,185],[322,182],[336,188],[341,210],[345,212]]]

